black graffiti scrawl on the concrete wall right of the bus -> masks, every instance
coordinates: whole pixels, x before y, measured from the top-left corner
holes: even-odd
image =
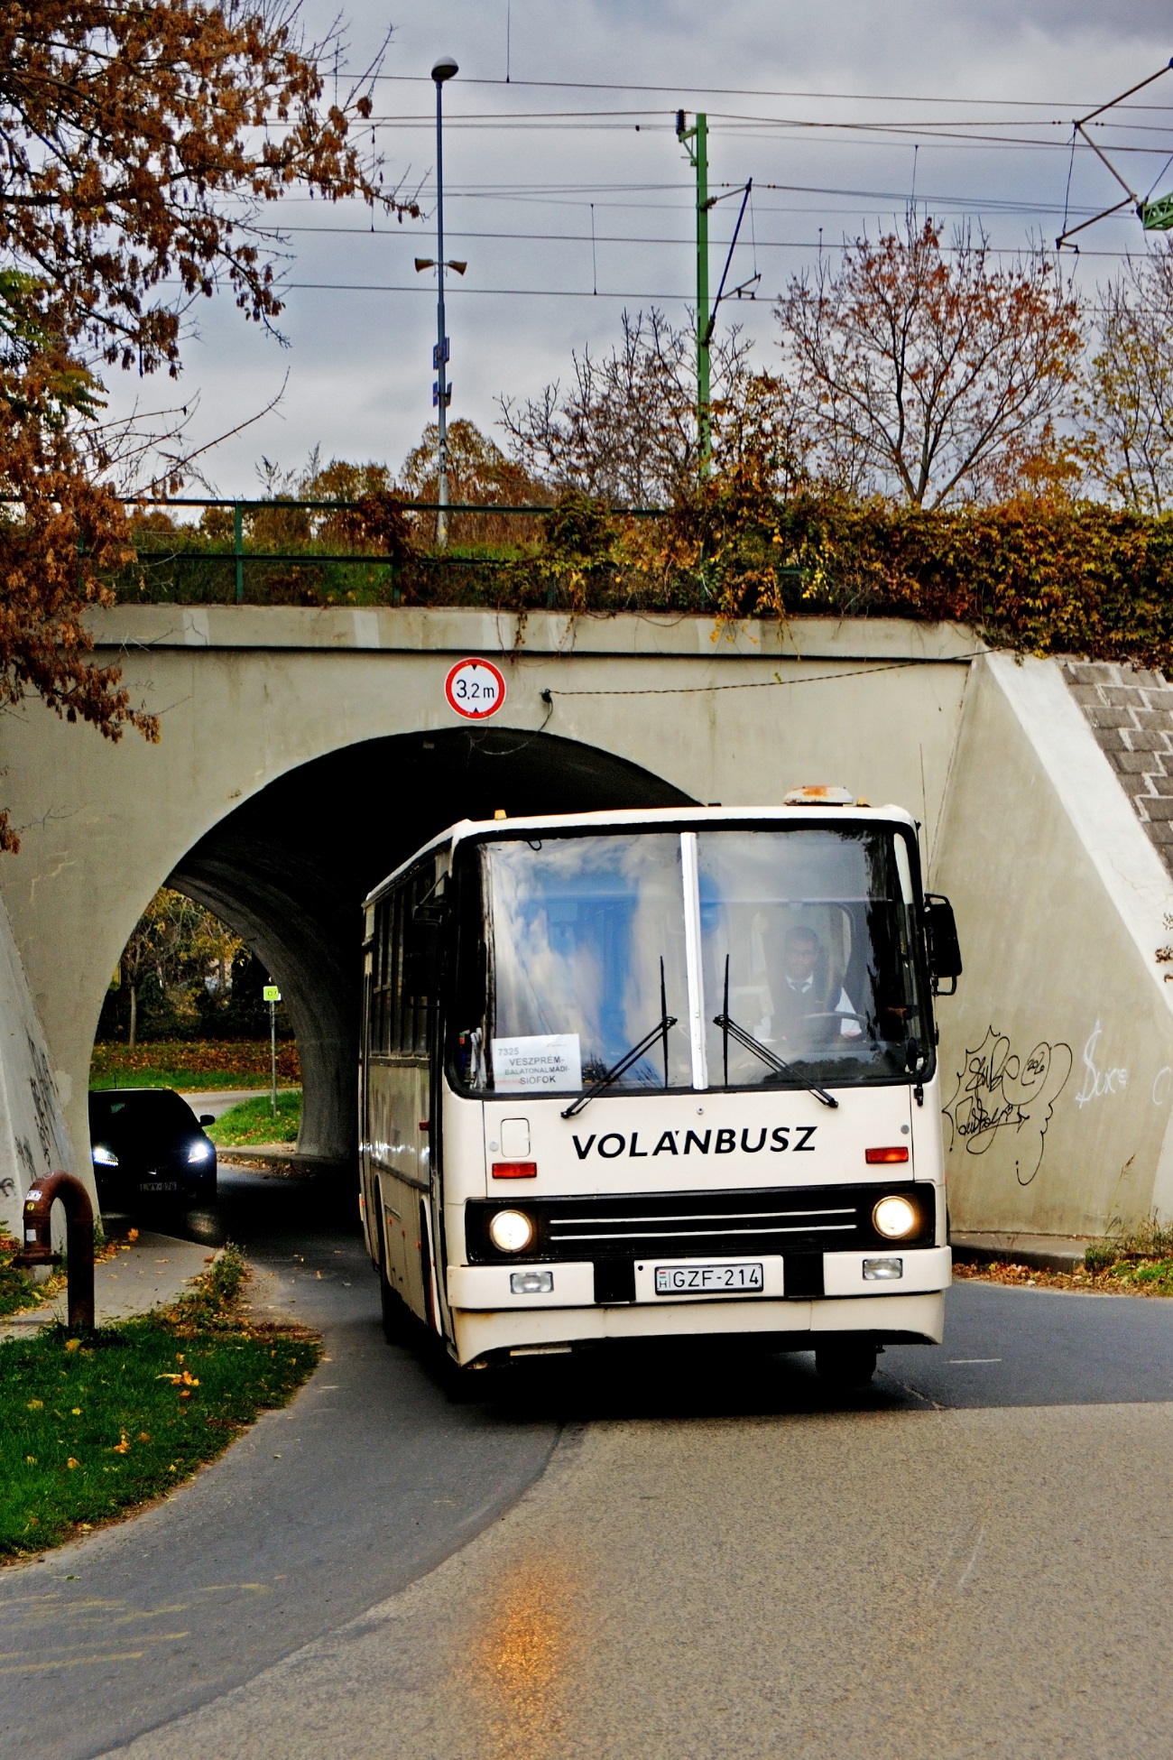
[[[992,1026],[980,1045],[965,1051],[957,1089],[943,1109],[950,1121],[950,1148],[987,1155],[995,1142],[1009,1144],[1015,1177],[1029,1186],[1043,1165],[1046,1126],[1055,1100],[1071,1075],[1071,1045],[1041,1040],[1025,1056]]]

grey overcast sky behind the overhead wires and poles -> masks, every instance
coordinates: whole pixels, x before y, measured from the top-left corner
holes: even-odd
[[[327,23],[332,5],[310,0],[304,16]],[[383,5],[352,0],[352,69],[385,21]],[[195,438],[262,408],[288,375],[280,410],[211,456],[216,493],[255,493],[260,454],[292,468],[315,445],[324,461],[396,466],[431,421],[436,289],[413,257],[434,253],[427,76],[440,53],[461,67],[445,88],[445,218],[448,255],[468,260],[463,280],[448,278],[452,417],[491,433],[501,392],[536,392],[573,348],[605,348],[624,304],[686,322],[693,172],[674,134],[679,106],[689,121],[709,114],[712,192],[753,178],[730,285],[758,273],[758,299],[723,313],[769,364],[770,297],[814,260],[820,236],[837,248],[892,225],[913,180],[946,227],[971,218],[1004,250],[1053,241],[1069,171],[1073,224],[1113,202],[1124,192],[1090,150],[1071,164],[1071,118],[1173,55],[1168,0],[412,0],[390,21],[376,141],[387,178],[422,187],[427,218],[371,234],[362,209],[283,202],[288,347],[230,299],[200,306],[181,380],[185,398],[199,392]],[[1173,72],[1133,106],[1099,139],[1133,188],[1162,194]],[[737,206],[714,211],[714,285]],[[1075,273],[1092,294],[1113,253],[1150,248],[1127,215],[1083,246]],[[162,382],[116,378],[116,407],[165,401]]]

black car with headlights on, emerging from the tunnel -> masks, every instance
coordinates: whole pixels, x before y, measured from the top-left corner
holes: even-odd
[[[114,1088],[90,1095],[90,1144],[98,1204],[193,1204],[216,1195],[216,1146],[174,1088]]]

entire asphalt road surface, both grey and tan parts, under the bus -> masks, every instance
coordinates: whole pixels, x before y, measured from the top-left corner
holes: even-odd
[[[1173,1748],[1173,1304],[965,1283],[849,1399],[723,1352],[463,1406],[382,1343],[353,1236],[257,1190],[227,1221],[332,1360],[160,1510],[0,1575],[14,1749]]]

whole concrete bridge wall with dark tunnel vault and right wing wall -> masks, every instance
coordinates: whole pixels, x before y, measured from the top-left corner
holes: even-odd
[[[842,781],[913,810],[930,876],[958,905],[967,970],[941,1003],[946,1098],[962,1091],[946,1123],[955,1221],[1075,1232],[1154,1197],[1173,1207],[1173,998],[1154,959],[1173,896],[1057,667],[987,658],[957,627],[862,620],[723,632],[703,618],[130,607],[102,614],[97,637],[160,715],[162,744],[111,746],[40,704],[0,727],[25,841],[0,892],[79,1170],[102,996],[165,880],[281,984],[306,1077],[299,1148],[341,1160],[355,1140],[357,901],[431,832],[496,808],[754,804]],[[463,723],[445,702],[464,655],[506,676],[492,722]],[[1097,1021],[1108,1086],[1080,1100]],[[1024,1177],[1039,1109],[1020,1089],[1038,1045],[1053,1118]],[[1076,1068],[1052,1093],[1062,1045]],[[1141,1107],[1143,1082],[1162,1098]],[[987,1128],[995,1104],[1022,1116]]]

